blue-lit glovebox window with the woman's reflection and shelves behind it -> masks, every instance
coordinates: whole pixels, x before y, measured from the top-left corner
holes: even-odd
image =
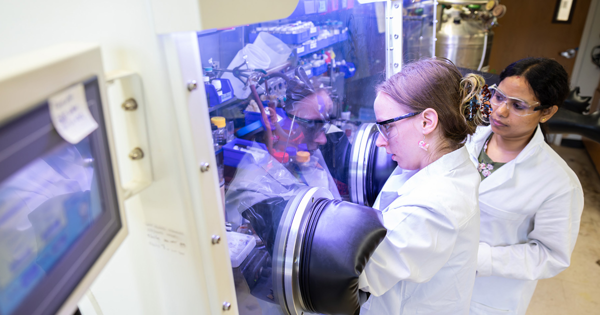
[[[273,247],[298,191],[349,200],[350,143],[375,120],[374,86],[385,79],[384,7],[301,0],[286,19],[198,34],[209,113],[235,131],[215,154],[240,314],[284,313]]]

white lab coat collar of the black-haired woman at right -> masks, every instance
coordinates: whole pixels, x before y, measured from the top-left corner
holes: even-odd
[[[473,161],[475,165],[479,164],[479,153],[481,153],[481,149],[485,144],[485,140],[488,139],[490,134],[490,126],[478,128],[476,133],[473,134],[471,139],[466,143],[466,147],[469,150],[471,161]],[[527,143],[525,148],[523,148],[523,150],[517,155],[517,157],[514,160],[504,164],[502,167],[500,167],[493,173],[491,173],[491,175],[488,178],[481,182],[481,185],[479,186],[479,194],[485,193],[491,188],[498,187],[499,185],[502,185],[503,183],[511,179],[514,175],[515,166],[523,162],[536,152],[538,152],[539,146],[541,146],[543,143],[544,134],[542,134],[542,129],[538,125],[535,133],[533,134],[533,138],[529,141],[529,143]]]

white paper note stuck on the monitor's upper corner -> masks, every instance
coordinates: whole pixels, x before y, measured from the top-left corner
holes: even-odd
[[[52,95],[48,107],[54,128],[69,143],[79,143],[98,128],[89,112],[82,83]]]

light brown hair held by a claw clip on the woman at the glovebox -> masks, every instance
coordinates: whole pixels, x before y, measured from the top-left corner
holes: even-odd
[[[485,80],[478,74],[463,78],[456,66],[445,58],[422,58],[404,65],[402,70],[376,87],[412,112],[431,108],[439,116],[442,136],[453,151],[463,146],[467,136],[483,124],[478,111],[473,121],[465,117],[469,101],[478,95]]]

